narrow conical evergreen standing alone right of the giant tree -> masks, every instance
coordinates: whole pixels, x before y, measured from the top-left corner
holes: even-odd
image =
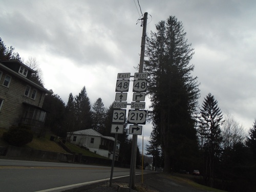
[[[204,141],[202,144],[202,150],[205,155],[204,176],[205,182],[212,187],[215,178],[215,164],[220,160],[221,154],[222,136],[220,126],[223,123],[223,116],[217,100],[210,93],[204,99],[200,112],[199,137]]]

